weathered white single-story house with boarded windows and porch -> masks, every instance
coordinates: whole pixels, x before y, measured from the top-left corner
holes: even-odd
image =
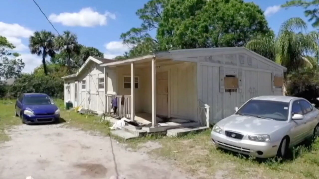
[[[285,71],[244,47],[172,50],[120,61],[90,56],[76,74],[63,77],[64,100],[110,113],[116,97],[120,117],[144,116],[152,127],[167,118],[204,126],[252,97],[282,95]]]

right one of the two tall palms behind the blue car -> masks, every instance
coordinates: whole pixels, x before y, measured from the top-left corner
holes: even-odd
[[[70,70],[71,66],[71,54],[80,53],[80,45],[78,44],[78,37],[76,34],[71,33],[70,31],[64,31],[62,36],[58,36],[55,39],[56,48],[61,52],[65,51],[68,55],[66,64]]]

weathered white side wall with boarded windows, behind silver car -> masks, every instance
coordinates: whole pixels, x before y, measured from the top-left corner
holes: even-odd
[[[282,88],[273,86],[273,76],[283,76],[283,69],[258,56],[233,53],[198,57],[198,99],[210,108],[210,123],[232,115],[252,97],[282,95]],[[239,88],[225,92],[225,75],[235,75]]]

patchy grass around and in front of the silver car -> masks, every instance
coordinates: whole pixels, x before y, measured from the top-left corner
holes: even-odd
[[[150,151],[152,156],[170,159],[186,172],[214,178],[319,178],[319,139],[295,147],[288,159],[256,159],[217,149],[211,143],[210,131],[189,134],[180,138],[150,137],[128,141],[131,147],[148,140],[159,142],[162,148]]]

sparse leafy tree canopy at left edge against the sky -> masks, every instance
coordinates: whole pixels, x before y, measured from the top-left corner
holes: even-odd
[[[19,54],[11,52],[14,48],[5,37],[0,36],[0,80],[19,76],[24,68]]]

